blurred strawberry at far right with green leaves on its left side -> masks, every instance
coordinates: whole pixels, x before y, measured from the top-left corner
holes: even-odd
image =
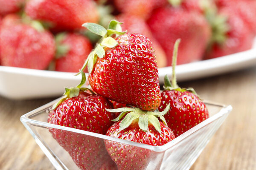
[[[245,51],[252,47],[254,36],[241,17],[230,12],[227,7],[221,8],[219,14],[221,17],[219,15],[217,21],[212,24],[212,41],[206,59]]]

